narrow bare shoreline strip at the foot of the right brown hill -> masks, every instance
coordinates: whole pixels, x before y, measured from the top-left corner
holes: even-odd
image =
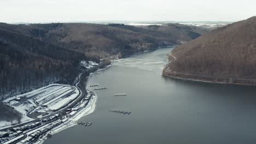
[[[256,86],[256,85],[253,85],[253,84],[246,84],[246,83],[228,83],[228,82],[220,82],[220,81],[207,81],[207,80],[201,80],[201,79],[186,79],[186,78],[183,78],[183,77],[163,75],[163,74],[161,76],[167,77],[167,78],[170,78],[170,79],[176,79],[176,80],[205,82],[205,83],[216,83],[216,84],[222,84],[222,85]]]

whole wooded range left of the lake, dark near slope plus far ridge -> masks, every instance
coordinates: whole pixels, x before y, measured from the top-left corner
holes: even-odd
[[[179,24],[0,23],[0,95],[6,98],[54,81],[72,83],[82,60],[181,44],[205,32]]]

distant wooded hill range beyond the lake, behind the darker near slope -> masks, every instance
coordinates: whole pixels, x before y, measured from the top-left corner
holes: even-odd
[[[50,23],[8,25],[0,28],[75,49],[87,55],[106,56],[121,52],[130,55],[158,46],[181,44],[195,39],[207,30],[195,26],[168,24],[135,27],[121,24]]]

